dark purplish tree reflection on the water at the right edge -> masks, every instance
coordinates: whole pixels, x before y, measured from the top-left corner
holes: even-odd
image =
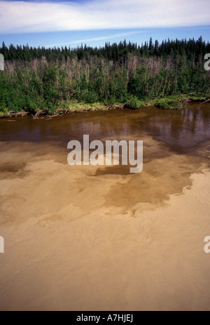
[[[147,121],[157,140],[176,152],[186,152],[210,138],[210,105],[189,105],[181,111],[158,111]]]

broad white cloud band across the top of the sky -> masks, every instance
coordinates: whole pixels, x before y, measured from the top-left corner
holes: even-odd
[[[209,0],[0,1],[0,33],[209,25]]]

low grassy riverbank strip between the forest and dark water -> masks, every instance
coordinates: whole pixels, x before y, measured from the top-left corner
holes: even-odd
[[[201,96],[197,94],[182,95],[182,96],[170,96],[167,98],[159,98],[154,100],[137,100],[136,98],[130,98],[124,103],[104,104],[102,102],[94,102],[92,104],[85,102],[69,102],[68,107],[55,107],[53,110],[38,110],[36,113],[21,111],[21,112],[0,112],[0,118],[5,117],[25,117],[27,115],[32,116],[34,119],[41,117],[59,117],[62,114],[69,113],[85,113],[96,112],[106,110],[123,110],[123,108],[129,108],[131,110],[137,110],[139,108],[145,108],[150,106],[156,106],[164,110],[180,110],[188,105],[190,102],[209,102],[210,96]]]

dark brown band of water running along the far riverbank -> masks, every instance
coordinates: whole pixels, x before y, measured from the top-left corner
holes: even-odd
[[[210,139],[210,104],[191,104],[183,110],[141,110],[73,113],[54,119],[0,119],[3,142],[59,142],[70,140],[139,139],[151,135],[176,154],[193,154]]]

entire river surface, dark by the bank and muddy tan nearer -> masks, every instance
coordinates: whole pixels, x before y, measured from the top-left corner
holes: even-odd
[[[144,167],[67,143],[143,140]],[[210,310],[210,104],[0,119],[0,310]]]

